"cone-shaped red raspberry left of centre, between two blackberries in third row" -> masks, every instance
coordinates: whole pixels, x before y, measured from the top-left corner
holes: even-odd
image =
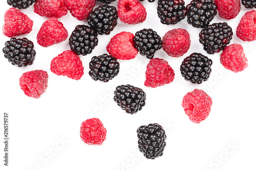
[[[67,76],[74,80],[80,80],[83,75],[82,61],[71,50],[67,50],[53,58],[50,69],[58,76]]]

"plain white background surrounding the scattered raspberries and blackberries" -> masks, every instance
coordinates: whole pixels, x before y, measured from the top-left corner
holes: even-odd
[[[96,6],[100,4],[97,2]],[[2,139],[4,112],[9,113],[10,119],[10,157],[6,169],[256,169],[256,42],[243,42],[236,36],[236,27],[249,10],[241,6],[236,18],[226,20],[217,14],[211,21],[228,22],[234,33],[231,43],[244,46],[249,66],[234,73],[221,65],[221,53],[208,55],[203,50],[198,36],[201,29],[188,25],[186,18],[177,25],[162,25],[157,16],[157,1],[142,4],[147,10],[147,19],[143,23],[127,25],[118,20],[110,35],[98,36],[99,43],[92,54],[80,56],[84,75],[78,81],[56,76],[50,71],[51,60],[70,49],[69,38],[47,48],[41,47],[36,42],[36,35],[47,18],[35,14],[33,6],[22,10],[34,25],[31,33],[18,38],[27,37],[34,42],[36,58],[33,65],[22,68],[11,65],[4,56],[0,58]],[[117,7],[117,2],[111,5]],[[6,1],[1,1],[1,26],[9,8]],[[88,25],[87,21],[78,21],[70,13],[59,21],[69,36],[76,25]],[[155,54],[155,57],[167,60],[174,69],[174,82],[157,88],[144,86],[149,60],[140,54],[133,60],[119,61],[119,75],[110,82],[93,81],[88,74],[91,58],[107,53],[105,47],[115,34],[121,31],[135,34],[143,28],[152,28],[161,37],[175,28],[190,33],[191,46],[184,56],[170,57],[162,49]],[[2,48],[9,38],[3,36],[2,31],[0,36]],[[213,61],[210,79],[201,85],[186,82],[179,70],[183,59],[193,52],[202,53]],[[47,91],[39,99],[26,96],[18,83],[24,72],[35,69],[46,70],[49,74]],[[121,84],[132,84],[146,92],[146,105],[137,114],[126,114],[113,101],[115,87]],[[181,107],[183,96],[195,88],[205,90],[213,102],[208,118],[200,124],[191,123]],[[81,123],[92,117],[101,119],[108,131],[100,146],[87,145],[79,136]],[[144,158],[137,147],[137,128],[150,123],[162,125],[167,134],[164,155],[155,160]],[[0,148],[2,167],[3,142]]]

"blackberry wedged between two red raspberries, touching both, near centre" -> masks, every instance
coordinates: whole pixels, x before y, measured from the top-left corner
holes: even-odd
[[[161,37],[152,29],[143,29],[135,33],[134,47],[142,56],[152,59],[157,50],[162,48]]]

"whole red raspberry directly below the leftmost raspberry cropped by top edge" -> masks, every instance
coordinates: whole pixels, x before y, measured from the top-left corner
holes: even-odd
[[[47,19],[37,34],[37,43],[41,46],[48,47],[53,44],[65,41],[68,38],[68,31],[57,18]]]

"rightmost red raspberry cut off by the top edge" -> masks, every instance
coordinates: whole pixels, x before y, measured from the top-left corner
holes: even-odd
[[[215,4],[224,19],[233,19],[241,10],[240,0],[215,0]]]

